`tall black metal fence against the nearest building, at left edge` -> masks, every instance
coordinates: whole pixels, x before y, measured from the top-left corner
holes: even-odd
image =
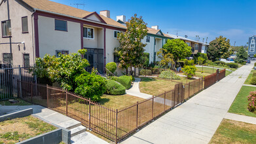
[[[0,64],[0,100],[18,97],[18,86],[20,81],[35,81],[29,73],[29,67],[20,65]]]

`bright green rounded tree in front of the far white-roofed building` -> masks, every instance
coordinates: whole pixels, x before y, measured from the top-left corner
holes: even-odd
[[[162,48],[163,54],[172,54],[175,62],[191,56],[191,46],[180,39],[168,39]]]

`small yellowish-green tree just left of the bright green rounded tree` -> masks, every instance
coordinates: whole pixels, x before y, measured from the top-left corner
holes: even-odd
[[[168,65],[174,64],[174,56],[168,53],[167,50],[164,48],[161,48],[157,52],[157,56],[158,58],[160,58],[159,65],[161,65],[162,67],[168,67]]]

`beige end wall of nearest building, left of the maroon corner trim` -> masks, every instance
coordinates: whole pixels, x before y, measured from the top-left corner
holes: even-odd
[[[19,2],[20,3],[20,2]],[[12,61],[13,65],[23,65],[23,54],[29,54],[29,63],[34,62],[35,54],[33,52],[33,37],[32,37],[32,11],[22,3],[19,4],[17,1],[9,0],[10,9],[10,24],[12,31]],[[28,33],[22,33],[22,17],[27,16]],[[0,6],[0,21],[8,20],[7,1],[3,1]],[[2,27],[0,26],[0,31]],[[2,38],[0,34],[0,43],[10,43],[10,39]],[[22,43],[23,44],[13,44]],[[20,45],[20,50],[18,48]],[[0,60],[3,61],[3,53],[10,53],[9,44],[0,44]]]

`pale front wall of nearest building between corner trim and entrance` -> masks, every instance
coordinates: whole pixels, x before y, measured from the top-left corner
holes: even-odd
[[[69,54],[81,49],[81,26],[67,21],[67,31],[54,30],[54,18],[38,16],[39,56],[56,55],[56,50],[69,50]]]

